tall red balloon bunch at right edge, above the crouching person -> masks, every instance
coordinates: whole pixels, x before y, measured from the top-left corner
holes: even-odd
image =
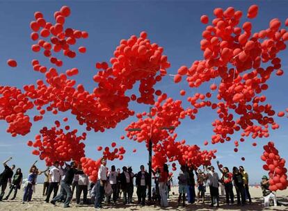
[[[261,159],[266,162],[263,169],[269,171],[269,189],[271,191],[286,189],[288,186],[286,160],[280,157],[273,142],[269,142],[263,148]]]

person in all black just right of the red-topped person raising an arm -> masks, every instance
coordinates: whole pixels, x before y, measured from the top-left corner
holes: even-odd
[[[243,175],[239,172],[237,167],[233,167],[233,181],[237,193],[237,205],[243,206],[245,204]]]

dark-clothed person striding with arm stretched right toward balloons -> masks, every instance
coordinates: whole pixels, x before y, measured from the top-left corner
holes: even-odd
[[[67,196],[64,202],[64,208],[70,207],[69,203],[72,199],[72,191],[70,186],[72,185],[74,175],[84,174],[83,171],[79,171],[78,169],[76,169],[76,167],[77,165],[75,162],[71,162],[70,167],[67,167],[67,171],[65,172],[65,178],[61,182],[61,192],[56,197],[54,197],[54,199],[52,199],[50,203],[55,205],[56,201],[60,201],[63,198],[63,195],[66,194]]]

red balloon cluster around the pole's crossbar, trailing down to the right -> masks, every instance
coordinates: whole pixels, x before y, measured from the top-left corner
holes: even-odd
[[[201,164],[211,164],[211,159],[216,158],[216,151],[200,151],[196,145],[186,145],[185,141],[175,142],[177,134],[174,129],[181,123],[186,115],[191,115],[193,110],[184,110],[182,101],[173,101],[166,94],[159,96],[155,107],[150,113],[138,113],[137,122],[132,122],[127,128],[127,137],[130,140],[146,142],[147,149],[152,141],[152,167],[162,167],[166,162],[178,161],[179,164],[193,165],[199,167]],[[154,118],[152,118],[154,117]],[[132,131],[131,131],[132,130]],[[173,170],[175,170],[175,163]]]

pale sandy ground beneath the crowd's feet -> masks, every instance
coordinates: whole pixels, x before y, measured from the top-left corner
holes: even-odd
[[[6,189],[6,193],[8,192],[8,189]],[[171,193],[175,192],[174,195]],[[206,193],[206,201],[203,205],[202,203],[199,204],[189,204],[186,205],[186,208],[178,207],[177,206],[177,197],[178,197],[178,191],[177,187],[173,187],[170,194],[169,199],[169,207],[166,209],[160,208],[157,205],[145,205],[144,207],[141,207],[140,205],[136,205],[136,190],[134,191],[134,203],[131,205],[123,205],[122,201],[118,201],[118,204],[115,205],[115,207],[112,207],[110,205],[106,205],[104,203],[104,207],[102,210],[145,210],[145,211],[152,211],[152,210],[288,210],[288,189],[285,191],[281,191],[277,193],[278,201],[282,203],[281,206],[278,207],[270,207],[270,208],[263,208],[262,207],[262,191],[259,187],[250,187],[250,194],[253,198],[253,203],[251,205],[245,205],[244,207],[239,207],[237,205],[225,205],[225,196],[221,196],[221,204],[220,208],[209,208],[209,193]],[[6,195],[5,195],[6,196]],[[70,211],[82,211],[82,210],[95,210],[93,208],[93,205],[77,205],[75,203],[75,199],[72,200],[72,203],[70,203],[71,208],[63,208],[63,203],[56,203],[56,205],[52,205],[50,203],[44,202],[44,197],[42,196],[42,185],[38,184],[36,185],[36,191],[33,193],[33,200],[30,203],[22,204],[22,196],[23,192],[22,189],[19,190],[17,197],[15,200],[11,201],[1,201],[0,202],[0,210],[13,210],[13,211],[22,211],[22,210],[40,210],[40,211],[49,211],[49,210],[70,210]],[[11,197],[11,196],[10,196]],[[75,193],[74,193],[75,197]],[[88,196],[89,198],[89,196]],[[236,201],[236,199],[235,199]]]

